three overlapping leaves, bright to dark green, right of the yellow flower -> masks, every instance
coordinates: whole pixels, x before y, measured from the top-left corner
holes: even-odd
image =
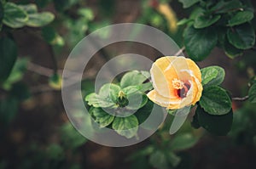
[[[219,87],[224,81],[224,69],[209,66],[201,69],[201,75],[204,89],[191,124],[216,135],[226,135],[232,126],[233,112],[229,93]]]

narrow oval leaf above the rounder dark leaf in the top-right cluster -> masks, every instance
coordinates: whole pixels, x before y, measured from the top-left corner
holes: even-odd
[[[231,20],[229,20],[229,25],[241,25],[243,23],[246,23],[250,20],[253,20],[253,12],[251,11],[239,11],[237,12]]]

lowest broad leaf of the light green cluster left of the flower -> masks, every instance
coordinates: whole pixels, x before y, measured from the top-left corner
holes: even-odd
[[[137,135],[138,121],[135,115],[126,117],[115,117],[112,128],[125,138],[132,138]]]

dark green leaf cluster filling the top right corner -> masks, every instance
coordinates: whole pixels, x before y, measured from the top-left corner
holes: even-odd
[[[178,23],[188,26],[184,31],[184,45],[192,59],[206,59],[216,45],[223,48],[230,58],[253,47],[255,32],[251,3],[239,0],[180,2],[183,8],[193,8],[189,19]]]

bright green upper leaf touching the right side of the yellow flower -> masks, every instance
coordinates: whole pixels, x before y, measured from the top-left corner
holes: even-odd
[[[218,86],[224,81],[225,71],[222,67],[212,65],[201,69],[203,87]]]

